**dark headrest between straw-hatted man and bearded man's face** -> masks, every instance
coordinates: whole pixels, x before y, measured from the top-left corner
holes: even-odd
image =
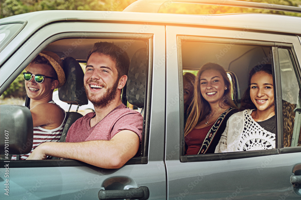
[[[58,88],[58,97],[69,104],[88,104],[84,88],[84,72],[79,63],[72,57],[63,60],[66,82]]]

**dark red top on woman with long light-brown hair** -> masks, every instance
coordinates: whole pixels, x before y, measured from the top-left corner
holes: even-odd
[[[185,155],[197,155],[201,146],[213,124],[204,128],[194,128],[185,136],[185,142],[188,145]]]

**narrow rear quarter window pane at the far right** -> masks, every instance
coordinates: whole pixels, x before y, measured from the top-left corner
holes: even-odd
[[[300,88],[289,49],[278,48],[284,147],[301,145]]]

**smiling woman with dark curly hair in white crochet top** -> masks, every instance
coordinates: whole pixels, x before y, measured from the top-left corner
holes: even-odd
[[[275,103],[272,65],[253,67],[241,112],[232,115],[216,153],[275,148]]]

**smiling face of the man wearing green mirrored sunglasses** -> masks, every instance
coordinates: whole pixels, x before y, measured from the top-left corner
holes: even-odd
[[[27,72],[52,77],[52,69],[53,68],[48,64],[32,63],[30,64]],[[37,83],[34,79],[35,76],[33,76],[30,81],[25,80],[25,89],[27,96],[33,100],[47,100],[49,98],[51,100],[52,92],[57,86],[58,81],[45,77],[42,83]]]

